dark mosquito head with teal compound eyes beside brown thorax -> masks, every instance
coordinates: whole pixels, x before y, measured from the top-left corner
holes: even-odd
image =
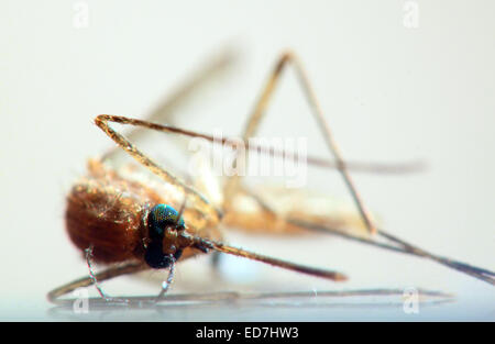
[[[144,259],[152,268],[166,268],[170,265],[170,255],[177,260],[184,245],[183,233],[186,229],[182,215],[167,204],[153,207],[147,217],[147,245]]]

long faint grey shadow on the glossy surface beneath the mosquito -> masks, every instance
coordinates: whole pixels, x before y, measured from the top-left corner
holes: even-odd
[[[453,302],[452,295],[418,290],[417,302],[421,308],[438,307]],[[252,309],[403,309],[405,299],[399,289],[344,290],[344,291],[295,291],[252,292],[222,291],[211,293],[168,295],[156,302],[156,296],[125,297],[127,302],[107,301],[102,298],[86,299],[86,311],[75,308],[80,299],[56,301],[47,314],[58,320],[106,320],[107,317],[166,315],[170,321],[184,312],[201,310],[227,310],[228,312]],[[138,313],[136,313],[138,312]],[[150,313],[151,312],[151,313]],[[88,317],[89,315],[89,317]],[[134,318],[133,318],[134,319]],[[153,318],[151,318],[153,319]],[[110,320],[110,318],[109,318]],[[131,319],[130,319],[131,320]],[[157,320],[164,320],[160,318]]]

